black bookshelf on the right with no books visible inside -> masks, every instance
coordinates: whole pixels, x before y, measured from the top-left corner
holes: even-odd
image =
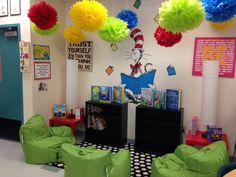
[[[174,152],[182,143],[184,109],[136,107],[135,149],[157,155]]]

